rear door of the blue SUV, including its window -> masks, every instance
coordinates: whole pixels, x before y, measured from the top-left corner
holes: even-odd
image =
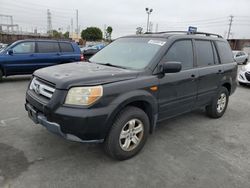
[[[59,64],[60,49],[58,42],[54,41],[37,41],[36,42],[36,62],[34,62],[34,70]]]

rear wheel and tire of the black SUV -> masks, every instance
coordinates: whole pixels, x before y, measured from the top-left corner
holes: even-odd
[[[221,87],[218,94],[214,97],[211,104],[206,107],[207,115],[211,118],[220,118],[227,109],[229,100],[229,91]]]

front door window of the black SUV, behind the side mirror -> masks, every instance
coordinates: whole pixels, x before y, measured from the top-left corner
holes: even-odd
[[[175,42],[168,50],[164,61],[177,61],[182,63],[182,70],[193,68],[193,45],[191,40]]]

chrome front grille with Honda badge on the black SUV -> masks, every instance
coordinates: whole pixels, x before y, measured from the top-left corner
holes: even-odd
[[[30,90],[32,90],[38,96],[51,99],[53,93],[55,92],[55,86],[44,80],[34,77],[30,84]]]

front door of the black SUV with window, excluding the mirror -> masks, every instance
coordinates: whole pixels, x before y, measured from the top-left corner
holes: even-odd
[[[198,77],[198,71],[194,68],[191,39],[174,42],[162,61],[181,62],[182,70],[159,78],[159,120],[193,109],[197,96]]]

